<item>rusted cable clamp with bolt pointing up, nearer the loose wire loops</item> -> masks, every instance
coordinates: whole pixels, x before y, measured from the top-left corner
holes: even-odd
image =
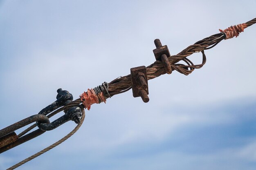
[[[153,50],[153,53],[155,55],[155,60],[157,61],[162,61],[165,71],[167,74],[172,73],[171,65],[168,61],[168,57],[171,56],[167,45],[162,46],[162,43],[160,42],[159,39],[155,39],[154,41],[155,46],[157,47],[156,49]]]

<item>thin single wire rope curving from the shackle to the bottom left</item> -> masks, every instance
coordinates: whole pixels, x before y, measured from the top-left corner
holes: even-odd
[[[31,161],[32,159],[42,155],[43,153],[51,150],[52,148],[58,146],[59,144],[61,144],[63,141],[67,140],[68,138],[70,138],[72,135],[74,135],[74,133],[81,127],[81,125],[83,124],[85,118],[85,110],[82,110],[82,117],[81,117],[81,121],[80,123],[74,128],[74,130],[72,130],[69,134],[67,134],[65,137],[63,137],[62,139],[60,139],[59,141],[55,142],[54,144],[52,144],[51,146],[48,146],[47,148],[41,150],[40,152],[37,152],[36,154],[28,157],[27,159],[24,159],[23,161],[20,161],[19,163],[17,163],[16,165],[8,168],[7,170],[13,170],[15,168],[18,168],[19,166],[23,165],[24,163]]]

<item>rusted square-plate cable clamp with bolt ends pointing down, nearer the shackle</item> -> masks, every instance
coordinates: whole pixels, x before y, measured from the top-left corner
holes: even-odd
[[[143,102],[147,103],[149,101],[149,97],[146,66],[131,68],[130,72],[133,97],[141,97]]]

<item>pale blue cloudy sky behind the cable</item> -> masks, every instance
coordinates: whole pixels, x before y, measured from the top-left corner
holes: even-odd
[[[175,55],[256,18],[255,9],[256,0],[0,0],[0,129],[54,102],[58,88],[77,99],[152,64],[156,38]],[[255,170],[255,46],[252,25],[205,51],[206,64],[190,75],[148,81],[148,103],[128,91],[92,105],[70,139],[17,169]],[[199,64],[202,56],[189,59]],[[75,126],[67,122],[0,154],[0,170]]]

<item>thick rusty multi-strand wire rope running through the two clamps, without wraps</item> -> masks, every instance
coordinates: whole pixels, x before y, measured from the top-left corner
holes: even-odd
[[[250,20],[243,24],[243,28],[251,26],[252,24],[256,23],[256,18],[253,20]],[[234,34],[236,35],[236,34]],[[178,53],[177,55],[173,55],[168,57],[168,61],[171,64],[172,71],[176,70],[184,75],[189,75],[192,73],[195,69],[201,68],[205,62],[206,57],[204,55],[204,50],[208,50],[216,46],[219,42],[226,39],[225,33],[218,33],[211,35],[207,38],[204,38],[195,44],[188,46],[186,49]],[[193,64],[187,57],[193,53],[202,52],[202,64]],[[185,64],[180,64],[178,62],[184,62]],[[161,61],[156,61],[150,66],[147,66],[147,77],[148,80],[154,79],[156,77],[159,77],[160,75],[165,74],[166,71],[163,67],[163,64]],[[111,96],[117,95],[120,93],[124,93],[131,89],[132,83],[130,79],[130,75],[126,75],[124,77],[120,77],[117,79],[114,79],[112,82],[109,83],[109,89],[108,92]]]

